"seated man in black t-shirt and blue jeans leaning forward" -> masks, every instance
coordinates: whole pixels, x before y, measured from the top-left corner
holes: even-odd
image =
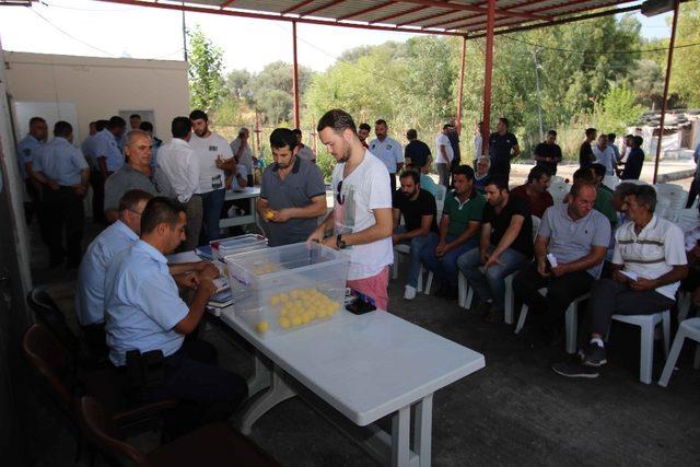
[[[502,176],[487,184],[486,198],[479,247],[462,255],[457,267],[481,300],[478,310],[485,319],[500,323],[505,308],[504,279],[533,257],[533,220],[527,202],[510,196]]]

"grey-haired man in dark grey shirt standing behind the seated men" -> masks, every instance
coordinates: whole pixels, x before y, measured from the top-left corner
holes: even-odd
[[[109,175],[105,183],[105,217],[109,223],[117,220],[119,200],[130,189],[140,189],[152,196],[175,196],[165,174],[151,166],[151,137],[143,130],[127,133],[124,145],[127,163]]]

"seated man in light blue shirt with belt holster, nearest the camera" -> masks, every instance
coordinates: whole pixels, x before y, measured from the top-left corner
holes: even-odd
[[[247,397],[245,380],[192,360],[183,347],[185,335],[197,328],[217,290],[212,280],[218,276],[218,270],[212,269],[196,273],[191,303],[187,305],[179,297],[165,255],[185,240],[186,223],[185,208],[179,202],[151,199],[141,218],[141,238],[114,258],[105,277],[109,360],[124,369],[127,358],[136,357],[127,353],[137,350],[144,361],[161,363],[160,381],[143,387],[136,397],[180,401],[168,427],[172,435],[228,420]]]

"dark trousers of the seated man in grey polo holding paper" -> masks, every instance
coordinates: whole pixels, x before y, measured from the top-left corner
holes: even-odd
[[[571,302],[591,290],[593,281],[593,276],[586,271],[545,278],[537,272],[537,262],[534,261],[515,276],[513,291],[530,311],[536,311],[545,329],[553,329]],[[546,297],[538,292],[541,288],[547,288]]]

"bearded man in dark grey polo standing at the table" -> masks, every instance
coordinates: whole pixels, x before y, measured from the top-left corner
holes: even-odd
[[[270,246],[304,242],[326,213],[326,185],[315,163],[298,156],[294,132],[278,128],[270,135],[273,164],[262,174],[258,213]]]

